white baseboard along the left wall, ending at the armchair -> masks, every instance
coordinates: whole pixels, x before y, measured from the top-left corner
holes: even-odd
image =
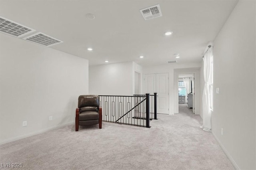
[[[49,127],[49,128],[45,128],[45,129],[42,129],[42,130],[38,130],[36,132],[31,132],[31,133],[28,133],[28,134],[22,134],[20,136],[14,137],[14,138],[10,138],[10,139],[6,139],[6,140],[1,141],[0,145],[5,144],[5,143],[9,143],[9,142],[13,142],[15,140],[19,140],[19,139],[22,139],[22,138],[26,138],[26,137],[29,137],[29,136],[33,136],[33,135],[36,135],[36,134],[39,134],[39,133],[43,133],[43,132],[46,132],[48,130],[52,130],[52,129],[55,129],[55,128],[64,127],[66,125],[72,125],[74,123],[75,122],[70,122],[70,123],[66,123],[64,125],[56,125],[54,127]]]

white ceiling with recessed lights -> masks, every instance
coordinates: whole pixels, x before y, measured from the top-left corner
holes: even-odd
[[[51,48],[89,65],[200,62],[237,0],[1,0],[0,16],[62,40]],[[144,20],[140,9],[160,4],[162,17]],[[95,16],[86,18],[87,13]],[[164,32],[171,30],[171,36]],[[1,33],[2,34],[2,33]],[[93,51],[87,48],[92,47]],[[144,58],[139,58],[143,55]]]

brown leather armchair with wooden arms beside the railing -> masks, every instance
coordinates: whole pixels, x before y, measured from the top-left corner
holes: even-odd
[[[80,95],[78,97],[78,108],[76,108],[76,131],[79,125],[102,125],[102,108],[100,97],[97,95]]]

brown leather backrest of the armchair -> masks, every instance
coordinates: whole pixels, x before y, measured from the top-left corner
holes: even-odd
[[[100,97],[98,95],[80,95],[78,108],[81,107],[100,107]]]

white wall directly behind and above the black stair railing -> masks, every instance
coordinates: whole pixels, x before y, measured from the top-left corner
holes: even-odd
[[[89,93],[96,95],[133,95],[133,62],[89,67]]]

